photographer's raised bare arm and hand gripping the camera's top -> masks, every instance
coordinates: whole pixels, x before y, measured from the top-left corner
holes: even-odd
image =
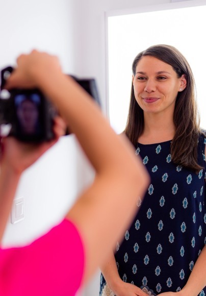
[[[7,86],[39,87],[57,106],[96,171],[93,184],[67,214],[84,241],[87,281],[133,218],[148,176],[131,145],[114,133],[91,97],[61,72],[55,57],[35,51],[21,56],[18,66]]]

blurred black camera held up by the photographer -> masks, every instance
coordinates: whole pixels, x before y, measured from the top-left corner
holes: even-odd
[[[9,136],[24,142],[42,142],[54,138],[54,116],[56,108],[39,89],[4,90],[7,78],[11,75],[11,66],[1,71],[0,126],[10,125]],[[94,79],[78,79],[78,82],[100,106],[96,82]],[[65,133],[68,135],[69,131]]]

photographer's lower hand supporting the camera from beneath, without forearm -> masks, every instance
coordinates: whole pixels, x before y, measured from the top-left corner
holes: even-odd
[[[12,169],[15,173],[21,174],[23,170],[31,166],[44,152],[53,146],[60,136],[65,134],[65,122],[57,116],[54,119],[55,138],[43,143],[24,143],[13,137],[2,138],[1,140],[1,166]]]

